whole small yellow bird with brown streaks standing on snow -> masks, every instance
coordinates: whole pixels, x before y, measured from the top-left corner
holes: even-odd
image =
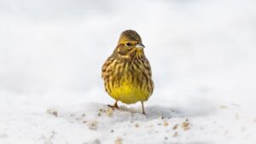
[[[136,31],[126,30],[121,33],[113,54],[102,66],[102,79],[105,90],[115,103],[108,107],[117,108],[118,101],[125,104],[144,101],[153,93],[151,66],[144,55],[142,38]]]

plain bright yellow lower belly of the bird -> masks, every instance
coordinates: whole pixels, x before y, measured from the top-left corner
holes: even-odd
[[[118,87],[113,88],[110,95],[115,100],[131,104],[137,101],[147,101],[149,93],[146,89],[135,86],[130,82],[122,82]]]

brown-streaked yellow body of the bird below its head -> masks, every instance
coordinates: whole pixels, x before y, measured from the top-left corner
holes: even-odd
[[[147,101],[154,84],[148,61],[144,63],[108,60],[102,68],[102,78],[108,95],[126,104]]]

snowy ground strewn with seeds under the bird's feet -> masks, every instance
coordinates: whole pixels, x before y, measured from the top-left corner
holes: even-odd
[[[219,107],[203,102],[197,107],[156,104],[146,107],[146,116],[141,107],[122,105],[112,111],[92,102],[26,111],[20,106],[1,112],[1,143],[255,142],[253,112],[234,103]]]

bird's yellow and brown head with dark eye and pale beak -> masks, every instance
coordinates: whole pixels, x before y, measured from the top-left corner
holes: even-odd
[[[126,30],[121,33],[119,42],[116,47],[115,55],[123,58],[131,58],[134,55],[139,57],[144,55],[144,45],[142,38],[137,34],[136,31]]]

